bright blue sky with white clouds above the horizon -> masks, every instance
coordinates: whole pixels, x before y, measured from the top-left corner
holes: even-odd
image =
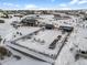
[[[87,0],[0,0],[3,10],[87,9]]]

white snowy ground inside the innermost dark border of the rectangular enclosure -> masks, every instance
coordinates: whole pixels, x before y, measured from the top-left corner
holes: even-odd
[[[35,50],[37,52],[56,55],[59,46],[58,47],[56,46],[54,50],[50,50],[48,46],[58,35],[62,35],[61,31],[45,30],[45,31],[40,31],[36,35],[33,35],[32,39],[19,40],[15,43],[19,45]],[[64,36],[66,35],[67,34],[64,34],[62,39],[64,39]],[[44,41],[44,43],[41,43],[37,40]],[[59,44],[62,41],[58,41],[57,44]]]

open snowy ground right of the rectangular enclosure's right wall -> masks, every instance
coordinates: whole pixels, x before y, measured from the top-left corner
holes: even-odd
[[[87,21],[78,23],[75,26],[68,42],[63,47],[59,56],[56,59],[55,65],[87,65],[87,58],[79,57],[75,61],[75,53],[70,52],[70,48],[87,51]],[[75,47],[77,45],[78,47]]]

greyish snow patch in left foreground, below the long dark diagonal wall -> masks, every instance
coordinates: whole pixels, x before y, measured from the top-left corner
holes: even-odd
[[[9,47],[8,47],[9,48]],[[32,57],[25,56],[17,51],[13,51],[9,48],[9,51],[12,52],[12,54],[18,55],[21,57],[21,59],[17,59],[15,57],[11,56],[9,58],[6,58],[3,61],[0,61],[1,65],[51,65],[48,63],[34,59]]]

